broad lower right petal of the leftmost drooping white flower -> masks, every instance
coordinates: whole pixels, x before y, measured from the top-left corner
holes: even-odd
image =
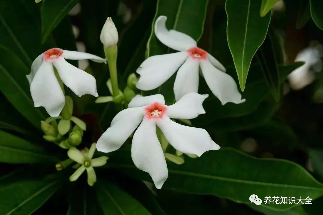
[[[69,64],[64,58],[53,61],[60,78],[75,94],[91,94],[98,97],[95,78],[87,72]]]

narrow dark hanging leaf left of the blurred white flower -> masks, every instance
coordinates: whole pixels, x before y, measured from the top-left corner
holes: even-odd
[[[275,34],[268,32],[264,43],[258,49],[256,57],[265,76],[270,92],[276,102],[280,99],[279,66],[275,46],[279,46]]]

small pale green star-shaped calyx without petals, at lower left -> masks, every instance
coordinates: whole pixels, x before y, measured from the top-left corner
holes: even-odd
[[[86,170],[88,173],[88,184],[93,186],[93,184],[97,181],[97,177],[93,167],[103,166],[107,163],[108,157],[101,156],[98,158],[92,159],[96,144],[93,143],[90,149],[85,148],[82,152],[77,148],[70,148],[67,152],[68,157],[73,161],[77,162],[81,166],[69,177],[70,181],[76,181],[78,177]]]

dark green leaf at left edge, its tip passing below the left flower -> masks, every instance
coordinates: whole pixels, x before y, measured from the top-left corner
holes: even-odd
[[[26,74],[29,69],[7,48],[0,45],[0,91],[35,127],[40,128],[44,114],[34,107]]]

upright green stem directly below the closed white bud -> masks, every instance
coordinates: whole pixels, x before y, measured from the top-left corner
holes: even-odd
[[[112,93],[113,93],[113,97],[115,97],[119,94],[118,74],[117,74],[118,46],[112,45],[109,47],[104,47],[104,53],[108,61],[111,85],[112,85]]]

